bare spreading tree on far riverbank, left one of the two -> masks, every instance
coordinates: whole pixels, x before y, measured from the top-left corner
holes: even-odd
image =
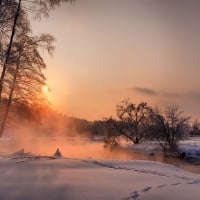
[[[116,113],[118,120],[106,119],[105,143],[107,145],[116,146],[121,136],[134,144],[145,139],[149,118],[152,115],[152,109],[147,106],[147,103],[141,102],[136,105],[129,100],[124,100],[117,105]]]

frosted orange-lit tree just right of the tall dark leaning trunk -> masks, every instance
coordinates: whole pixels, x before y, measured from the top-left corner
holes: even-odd
[[[47,98],[42,91],[46,78],[42,69],[46,67],[38,49],[44,48],[50,53],[53,50],[53,37],[41,35],[30,37],[24,32],[13,43],[10,62],[5,76],[4,98],[7,99],[3,121],[0,127],[0,136],[3,134],[8,112],[12,102],[25,104],[26,107],[45,106]]]

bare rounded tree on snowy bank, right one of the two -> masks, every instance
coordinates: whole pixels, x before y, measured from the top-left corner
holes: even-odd
[[[149,133],[159,142],[164,152],[176,152],[177,142],[188,133],[189,119],[183,116],[183,111],[176,105],[167,106],[163,113],[157,109]]]

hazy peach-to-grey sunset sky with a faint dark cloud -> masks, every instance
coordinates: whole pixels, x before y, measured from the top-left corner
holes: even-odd
[[[130,98],[200,117],[200,3],[76,0],[34,22],[56,38],[45,74],[56,109],[101,119]]]

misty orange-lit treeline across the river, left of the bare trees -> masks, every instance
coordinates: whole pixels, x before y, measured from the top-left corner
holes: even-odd
[[[88,121],[58,113],[48,107],[28,107],[13,103],[6,130],[36,136],[103,136],[105,121]]]

